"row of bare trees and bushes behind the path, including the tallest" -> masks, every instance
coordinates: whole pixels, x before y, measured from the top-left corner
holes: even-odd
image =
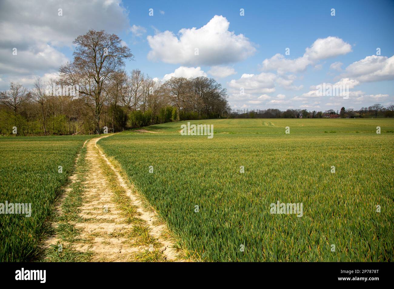
[[[35,80],[33,88],[10,83],[0,92],[0,133],[91,134],[168,121],[220,118],[230,112],[227,91],[207,77],[158,81],[141,70],[121,39],[104,30],[78,36],[73,61],[59,77]]]

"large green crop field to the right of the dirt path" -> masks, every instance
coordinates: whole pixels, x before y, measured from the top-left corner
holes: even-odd
[[[182,121],[98,145],[192,260],[393,261],[394,120],[190,122],[214,137]],[[303,210],[272,214],[278,201]]]

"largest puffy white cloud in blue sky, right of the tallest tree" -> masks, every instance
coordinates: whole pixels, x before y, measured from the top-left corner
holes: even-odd
[[[253,44],[244,35],[230,32],[229,25],[225,17],[215,15],[201,28],[180,29],[179,38],[171,31],[149,35],[148,59],[212,66],[242,61],[253,55],[256,51]]]

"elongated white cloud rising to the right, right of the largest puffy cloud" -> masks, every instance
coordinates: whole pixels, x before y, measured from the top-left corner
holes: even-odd
[[[319,60],[344,55],[351,52],[351,45],[338,37],[329,36],[319,38],[310,47],[305,49],[303,56],[296,59],[288,59],[284,55],[277,53],[271,58],[264,59],[262,69],[265,71],[276,70],[279,74],[286,72],[302,72],[309,65]],[[317,66],[319,68],[319,66]]]

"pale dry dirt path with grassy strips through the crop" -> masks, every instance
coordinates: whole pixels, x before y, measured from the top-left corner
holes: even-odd
[[[77,220],[67,222],[78,234],[72,238],[64,237],[64,232],[58,230],[58,234],[46,242],[47,248],[61,244],[73,252],[71,256],[89,252],[89,261],[177,260],[166,225],[143,206],[132,184],[97,147],[97,142],[103,137],[106,136],[91,139],[85,144],[88,169],[80,176],[83,177],[83,201],[78,208]],[[78,173],[71,177],[72,182],[77,178]],[[66,194],[71,190],[67,188]],[[61,208],[58,212],[66,213]],[[54,226],[59,228],[59,224]]]

